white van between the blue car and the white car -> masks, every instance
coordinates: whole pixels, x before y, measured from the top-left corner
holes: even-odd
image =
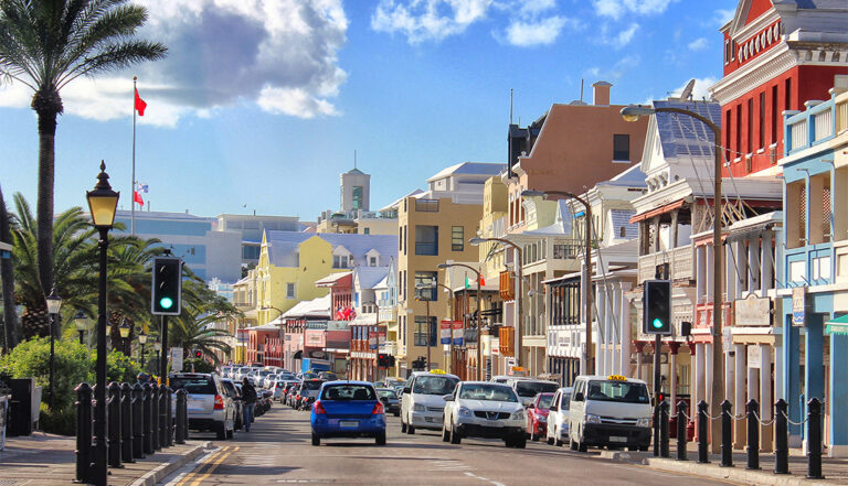
[[[415,428],[441,430],[444,397],[458,382],[459,377],[442,370],[413,371],[401,395],[401,432],[414,434]]]

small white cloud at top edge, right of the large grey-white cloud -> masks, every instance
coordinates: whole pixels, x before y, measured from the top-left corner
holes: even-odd
[[[465,32],[486,18],[492,0],[380,0],[371,29],[406,35],[411,44]]]

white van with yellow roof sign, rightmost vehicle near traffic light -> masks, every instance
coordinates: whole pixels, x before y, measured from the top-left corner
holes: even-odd
[[[619,375],[579,376],[569,411],[569,446],[628,447],[650,445],[651,406],[645,381]]]

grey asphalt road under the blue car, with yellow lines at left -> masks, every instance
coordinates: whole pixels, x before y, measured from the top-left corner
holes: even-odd
[[[167,478],[168,486],[200,485],[720,485],[645,466],[615,463],[597,453],[579,453],[543,442],[526,450],[500,441],[466,439],[442,442],[438,432],[401,434],[400,420],[389,417],[388,444],[373,440],[325,440],[310,444],[309,413],[275,404],[256,419],[251,432],[230,441],[212,441],[202,460]],[[206,438],[192,434],[192,439]],[[208,435],[214,439],[213,435]]]

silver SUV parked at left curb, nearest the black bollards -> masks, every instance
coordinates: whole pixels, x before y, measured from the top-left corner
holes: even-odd
[[[173,391],[188,393],[189,429],[214,431],[218,439],[231,439],[235,431],[235,404],[221,377],[214,374],[178,372],[168,377]]]

